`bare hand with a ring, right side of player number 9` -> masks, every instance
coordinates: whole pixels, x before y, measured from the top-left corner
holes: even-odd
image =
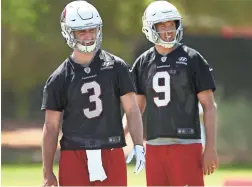
[[[218,155],[214,148],[206,148],[203,154],[204,175],[210,175],[217,169],[219,164]]]

